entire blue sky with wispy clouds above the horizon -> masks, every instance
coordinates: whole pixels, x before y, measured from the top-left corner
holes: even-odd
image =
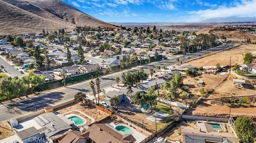
[[[104,22],[200,22],[256,16],[256,0],[63,0]]]

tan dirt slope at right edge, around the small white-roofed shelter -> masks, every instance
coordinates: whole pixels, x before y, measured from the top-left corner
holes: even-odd
[[[228,78],[218,85],[214,92],[210,94],[207,99],[215,99],[220,97],[232,97],[232,96],[244,96],[244,95],[255,95],[256,91],[254,89],[246,89],[246,88],[236,88],[233,83],[233,79],[237,78],[235,75],[230,75]],[[245,79],[247,83],[251,85],[256,84],[256,79]]]

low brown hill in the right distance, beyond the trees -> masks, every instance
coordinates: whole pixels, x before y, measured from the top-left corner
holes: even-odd
[[[241,39],[244,40],[246,38],[256,40],[255,35],[251,35],[249,33],[245,33],[239,30],[234,30],[226,27],[213,27],[210,29],[204,29],[196,32],[197,35],[201,33],[203,34],[213,33],[214,35],[218,35],[218,36],[224,35],[225,37],[227,37],[227,39],[238,40],[238,41],[240,41]]]

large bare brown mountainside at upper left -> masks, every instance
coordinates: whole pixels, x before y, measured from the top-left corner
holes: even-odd
[[[0,0],[0,35],[54,31],[76,25],[118,28],[93,18],[61,0]]]

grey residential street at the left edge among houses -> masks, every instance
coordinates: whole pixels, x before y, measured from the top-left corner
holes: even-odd
[[[17,67],[12,67],[7,61],[3,59],[4,57],[0,56],[0,65],[4,67],[4,69],[11,74],[11,76],[24,76],[24,74],[21,74],[20,71],[18,71]]]

